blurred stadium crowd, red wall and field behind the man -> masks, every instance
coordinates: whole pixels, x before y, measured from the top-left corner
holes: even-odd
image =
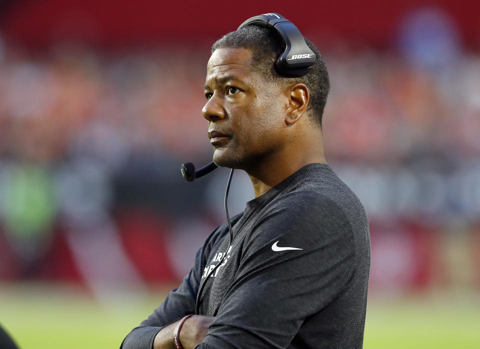
[[[327,161],[370,221],[364,348],[480,348],[480,2],[0,1],[0,323],[117,348],[224,220],[211,43],[276,11],[319,47]],[[253,197],[235,173],[230,212]]]

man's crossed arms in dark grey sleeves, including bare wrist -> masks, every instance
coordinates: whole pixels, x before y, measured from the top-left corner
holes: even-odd
[[[235,281],[216,317],[185,321],[179,335],[183,348],[287,348],[303,320],[328,305],[353,275],[349,223],[329,208],[325,216],[316,211],[309,219],[291,209],[265,217],[244,242]],[[277,240],[302,250],[274,252]],[[206,260],[203,253],[197,260]],[[125,338],[122,349],[175,348],[173,332],[181,318],[194,313],[203,264],[195,263],[180,287]]]

